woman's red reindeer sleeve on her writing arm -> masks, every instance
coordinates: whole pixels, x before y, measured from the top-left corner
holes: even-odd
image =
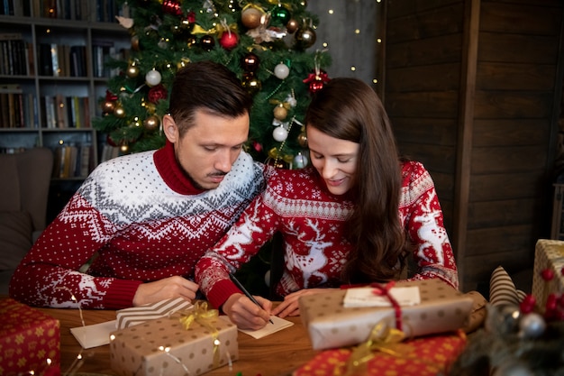
[[[265,203],[266,196],[263,192],[255,197],[222,240],[196,263],[196,283],[214,307],[221,307],[232,294],[241,292],[229,272],[249,261],[277,232],[280,221],[271,204]]]

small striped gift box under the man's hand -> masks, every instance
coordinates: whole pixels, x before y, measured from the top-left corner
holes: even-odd
[[[116,312],[117,328],[136,326],[145,321],[170,316],[177,311],[194,307],[192,303],[184,298],[172,298],[161,300],[157,303],[147,304],[140,307],[120,309]]]

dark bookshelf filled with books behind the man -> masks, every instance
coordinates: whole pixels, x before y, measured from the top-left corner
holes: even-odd
[[[96,167],[105,148],[91,119],[102,115],[109,57],[131,36],[115,0],[4,0],[0,4],[0,152],[49,147],[55,157],[49,216]]]

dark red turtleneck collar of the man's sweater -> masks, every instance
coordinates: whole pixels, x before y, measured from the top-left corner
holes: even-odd
[[[180,195],[198,195],[205,192],[205,189],[194,187],[192,180],[188,179],[186,172],[178,164],[172,142],[165,143],[165,146],[153,154],[155,167],[159,171],[160,177]]]

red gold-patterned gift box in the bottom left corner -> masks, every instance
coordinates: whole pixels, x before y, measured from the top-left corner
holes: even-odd
[[[59,320],[12,298],[0,299],[0,374],[60,373]]]

